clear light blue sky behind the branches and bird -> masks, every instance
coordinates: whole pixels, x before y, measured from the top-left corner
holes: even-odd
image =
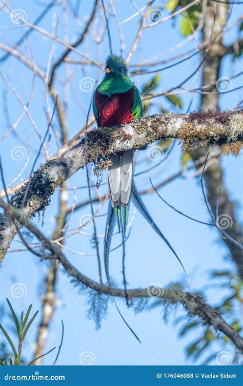
[[[37,15],[43,10],[43,6],[47,4],[47,1],[37,2],[30,0],[9,0],[11,8],[21,8],[26,12],[27,21],[32,23]],[[74,3],[74,2],[70,2]],[[135,13],[135,9],[131,2],[125,0],[123,2],[116,2],[116,13],[119,21],[125,21],[131,14]],[[142,7],[146,4],[145,1],[137,1],[138,7]],[[165,5],[165,2],[155,2],[153,7]],[[79,10],[79,17],[75,20],[70,15],[68,16],[68,40],[70,43],[75,41],[77,36],[82,32],[83,26],[76,28],[78,20],[82,20],[83,17],[89,14],[92,3],[88,1],[82,2]],[[239,7],[239,6],[238,6]],[[230,16],[229,25],[232,25],[239,16],[239,10],[236,7],[232,15]],[[57,35],[63,38],[63,11],[62,7],[54,7],[49,12],[39,27],[47,30],[51,33],[55,31],[55,26],[58,21]],[[164,15],[169,13],[164,10]],[[134,33],[139,26],[140,18],[135,16],[131,21],[122,25],[125,42],[125,56],[131,48]],[[140,43],[132,56],[132,63],[139,63],[141,61],[150,62],[155,55],[159,55],[157,60],[166,60],[170,57],[187,52],[191,48],[195,47],[195,40],[189,41],[187,44],[182,45],[176,51],[169,51],[172,47],[180,44],[184,41],[184,37],[179,32],[180,16],[176,20],[168,20],[165,23],[161,23],[153,28],[148,28],[144,31]],[[12,27],[10,14],[7,10],[1,12],[1,26]],[[19,27],[19,25],[16,25]],[[96,21],[93,26],[92,35],[88,38],[84,45],[78,47],[78,49],[86,53],[89,57],[97,60],[97,52],[100,55],[100,61],[104,62],[106,56],[109,54],[108,38],[105,35],[104,41],[97,50],[97,46],[93,44],[94,37],[98,36],[97,31],[99,28],[99,22]],[[114,52],[119,53],[119,38],[117,33],[117,27],[114,22],[114,18],[110,22],[110,29],[112,34],[112,45]],[[14,42],[18,40],[23,34],[23,28],[15,29],[1,29],[1,43],[7,46],[12,46]],[[225,44],[232,43],[238,35],[238,28],[231,29],[225,38]],[[200,36],[199,36],[200,37]],[[36,65],[41,70],[46,70],[48,64],[48,57],[50,50],[54,48],[52,63],[54,59],[58,59],[60,54],[64,51],[64,47],[61,44],[56,43],[52,47],[52,40],[44,36],[43,34],[34,31],[28,38],[28,43],[25,42],[22,45],[21,51],[23,55],[26,55],[31,61],[31,55],[33,55]],[[76,53],[70,55],[72,59],[82,59]],[[99,60],[97,60],[99,61]],[[187,78],[188,74],[193,72],[199,63],[199,57],[194,56],[189,61],[183,64],[173,67],[169,73],[163,77],[163,81],[160,82],[158,92],[163,92],[170,87],[176,86],[181,81]],[[160,66],[163,67],[164,65]],[[228,56],[224,59],[222,65],[222,73],[220,76],[231,77],[234,74],[240,72],[242,66],[242,60],[233,62],[232,57]],[[132,67],[133,69],[135,67]],[[159,68],[159,67],[158,67]],[[4,63],[2,63],[1,71],[4,73],[8,81],[14,86],[19,82],[16,90],[26,103],[29,99],[31,87],[33,85],[33,73],[23,63],[9,57]],[[69,66],[72,79],[68,90],[67,99],[67,127],[69,132],[69,139],[85,124],[86,114],[92,98],[92,90],[90,92],[84,92],[80,90],[80,81],[86,76],[91,77],[94,81],[100,81],[103,76],[102,71],[97,70],[93,66],[86,66],[84,69],[78,65]],[[163,75],[163,72],[160,73]],[[151,80],[153,75],[141,75],[133,76],[132,80],[137,87],[141,89],[143,85]],[[25,79],[21,82],[21,78]],[[60,67],[57,72],[55,86],[59,95],[59,98],[64,98],[64,66]],[[6,111],[6,103],[8,105],[10,121],[13,124],[19,115],[23,111],[23,107],[16,99],[16,96],[9,94],[9,88],[6,83],[1,80],[1,86],[3,93],[1,118],[4,124],[1,125],[1,135],[4,134],[8,127],[4,120],[4,110]],[[186,87],[194,88],[197,82],[197,75],[186,83]],[[233,80],[233,87],[238,87],[239,78]],[[6,96],[7,95],[7,98]],[[189,103],[193,98],[191,110],[196,110],[199,107],[199,95],[198,94],[185,94],[183,95],[183,109],[179,112],[186,112]],[[220,96],[220,108],[233,108],[242,99],[242,93],[240,96],[240,90],[226,93]],[[169,111],[176,112],[164,97],[160,97],[153,101],[154,105],[151,107],[149,114],[156,113],[159,108],[163,107]],[[49,100],[50,110],[53,108],[53,103]],[[47,130],[47,119],[45,114],[45,85],[42,80],[36,76],[34,80],[34,94],[29,105],[29,111],[33,118],[40,134],[44,136]],[[56,130],[59,130],[57,118],[54,117],[53,124]],[[30,157],[29,163],[22,173],[21,178],[27,178],[29,176],[33,161],[36,157],[36,149],[39,147],[39,139],[33,128],[33,124],[28,119],[27,115],[23,117],[21,122],[16,128],[17,136],[10,134],[4,142],[1,142],[1,156],[4,165],[5,180],[6,183],[10,183],[24,167],[28,157]],[[28,156],[28,142],[31,143],[30,155]],[[14,160],[13,148],[21,145],[24,147],[25,157],[21,161]],[[23,151],[23,149],[22,149]],[[56,141],[54,134],[51,134],[49,153],[52,154],[56,151]],[[16,157],[15,157],[16,158]],[[44,153],[42,157],[38,159],[38,166],[44,160]],[[139,151],[137,157],[136,172],[144,170],[153,165],[153,161],[148,158],[148,150]],[[225,186],[229,192],[230,198],[240,203],[242,197],[242,159],[235,157],[223,157],[222,165],[225,170]],[[37,166],[37,165],[36,165]],[[161,166],[151,170],[151,172],[136,178],[136,184],[139,188],[150,188],[149,177],[151,177],[153,183],[165,180],[171,176],[174,172],[178,171],[181,167],[181,148],[178,143],[174,147],[169,158],[161,164]],[[92,170],[92,166],[90,166]],[[95,182],[96,178],[92,179]],[[17,182],[20,181],[18,178]],[[103,172],[103,182],[107,181],[107,173]],[[68,181],[69,187],[79,187],[86,185],[86,172],[85,170],[79,170],[75,176]],[[98,194],[104,194],[107,191],[107,185],[100,186]],[[205,207],[204,199],[200,189],[199,181],[195,179],[176,179],[174,182],[166,185],[160,190],[161,195],[167,199],[176,208],[183,210],[188,215],[200,219],[202,221],[209,221],[209,214]],[[95,196],[96,190],[94,189],[92,194]],[[55,216],[57,214],[57,198],[58,191],[52,196],[51,204],[47,207],[44,215],[44,227],[43,231],[46,235],[50,236],[55,226]],[[73,203],[74,193],[72,190],[68,191],[68,200],[70,205]],[[88,192],[86,189],[76,190],[77,202],[85,201],[88,198]],[[172,255],[168,247],[153,233],[152,230],[146,231],[147,223],[138,214],[135,214],[132,221],[132,230],[130,238],[126,243],[126,277],[129,283],[129,287],[148,287],[151,283],[160,283],[162,286],[167,286],[172,282],[180,282],[189,291],[200,291],[204,286],[212,282],[210,271],[212,269],[222,270],[230,269],[234,273],[234,267],[231,259],[228,257],[228,250],[218,239],[218,233],[216,230],[201,225],[195,222],[181,217],[175,213],[172,209],[167,209],[159,198],[153,195],[146,195],[143,197],[151,215],[153,218],[158,219],[158,225],[165,233],[166,237],[170,240],[171,244],[175,248],[176,252],[183,261],[183,264],[188,273],[188,277],[183,272],[183,269]],[[97,205],[95,205],[97,208]],[[106,213],[107,206],[105,205],[100,214]],[[165,211],[163,216],[161,213]],[[133,213],[133,208],[130,211]],[[68,229],[72,229],[78,226],[80,218],[84,215],[90,214],[90,207],[86,206],[82,210],[73,214]],[[238,220],[241,221],[240,207],[238,208]],[[33,219],[34,223],[41,227],[41,220],[38,223],[38,219]],[[96,221],[98,235],[104,234],[105,229],[105,217],[99,217]],[[92,229],[85,230],[86,233],[92,233]],[[99,238],[100,250],[103,249],[103,238]],[[113,238],[113,246],[120,243],[120,236],[115,235]],[[98,276],[95,250],[92,248],[90,238],[84,235],[75,235],[72,238],[67,239],[66,246],[70,249],[75,249],[79,253],[93,254],[93,256],[80,256],[65,251],[67,258],[74,264],[80,271],[92,279],[96,279]],[[17,239],[11,244],[11,248],[19,248],[21,244],[17,242]],[[8,297],[12,302],[14,308],[20,313],[22,310],[27,310],[30,303],[33,304],[33,311],[40,310],[40,296],[44,293],[44,279],[48,269],[47,262],[38,261],[37,257],[31,255],[29,252],[17,252],[9,253],[2,267],[1,275],[1,294],[2,299]],[[122,249],[116,249],[110,256],[110,273],[112,278],[118,285],[122,285]],[[11,296],[11,286],[16,283],[24,283],[26,287],[26,295],[21,298],[14,298]],[[229,290],[230,291],[230,290]],[[216,286],[214,291],[206,292],[208,300],[213,298],[219,292],[219,287]],[[137,315],[134,314],[132,308],[127,308],[123,300],[117,300],[120,307],[120,311],[123,313],[126,320],[132,326],[136,334],[139,336],[143,345],[140,345],[134,337],[131,335],[122,319],[119,317],[115,305],[110,302],[108,308],[108,315],[105,320],[102,321],[102,327],[100,330],[95,330],[95,323],[93,320],[87,318],[87,298],[82,297],[78,300],[78,296],[82,293],[82,290],[78,286],[74,286],[71,283],[70,278],[64,273],[63,269],[60,269],[57,280],[57,306],[56,311],[51,322],[51,328],[48,336],[48,344],[46,351],[50,350],[53,346],[58,346],[60,342],[60,336],[62,332],[61,320],[64,322],[65,335],[62,351],[60,352],[57,364],[80,364],[79,356],[85,351],[92,352],[95,356],[95,364],[149,364],[154,357],[156,361],[154,364],[189,364],[185,355],[185,345],[191,341],[191,337],[185,337],[178,339],[178,326],[175,327],[174,321],[181,315],[186,313],[181,307],[172,310],[168,316],[167,323],[163,320],[164,309],[155,308],[154,310],[141,312]],[[38,316],[40,318],[40,315]],[[37,318],[37,319],[38,319]],[[186,320],[186,316],[185,316]],[[30,344],[33,344],[36,327],[39,319],[31,327],[30,334],[26,342],[26,348]],[[195,338],[195,337],[194,337]],[[228,345],[228,350],[233,353],[232,346]],[[220,350],[217,344],[214,344],[215,351]],[[31,351],[31,350],[30,350]],[[28,351],[26,356],[31,358],[31,353]],[[162,354],[160,355],[159,353]],[[52,364],[54,354],[51,353],[44,359],[44,364]],[[195,364],[191,361],[190,363]],[[212,362],[214,364],[214,362]]]

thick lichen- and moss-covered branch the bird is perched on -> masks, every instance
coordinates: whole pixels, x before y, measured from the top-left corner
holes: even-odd
[[[242,111],[168,113],[151,115],[116,128],[94,129],[78,145],[36,170],[30,182],[12,196],[11,203],[21,208],[21,215],[28,218],[43,210],[56,188],[87,163],[93,162],[105,168],[110,165],[110,154],[144,149],[161,139],[180,139],[184,148],[218,145],[224,151],[237,154],[243,139],[242,117]],[[0,258],[5,256],[16,233],[13,219],[4,211],[0,215]]]

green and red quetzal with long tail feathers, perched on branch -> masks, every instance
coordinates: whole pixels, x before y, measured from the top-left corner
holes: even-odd
[[[128,78],[128,69],[124,60],[117,55],[109,55],[106,60],[105,73],[105,78],[98,85],[93,96],[93,112],[97,126],[112,127],[142,117],[143,105],[140,94]],[[125,236],[130,201],[145,217],[151,228],[166,242],[180,262],[179,257],[153,221],[139,196],[133,180],[133,155],[134,150],[115,153],[112,155],[112,166],[108,170],[110,203],[104,243],[104,260],[108,281],[110,281],[109,252],[113,229],[115,222],[117,222],[119,231],[122,229]]]

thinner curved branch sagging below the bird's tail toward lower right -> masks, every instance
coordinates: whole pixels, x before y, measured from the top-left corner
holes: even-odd
[[[80,273],[77,268],[75,268],[66,258],[62,249],[54,245],[49,239],[47,239],[42,232],[36,228],[32,223],[29,222],[28,218],[23,218],[21,216],[21,211],[14,208],[11,205],[3,203],[1,200],[0,203],[8,210],[11,215],[21,222],[23,226],[28,228],[37,239],[43,243],[45,248],[47,248],[51,255],[46,258],[57,259],[62,266],[64,267],[67,274],[80,283],[83,283],[85,286],[90,288],[93,291],[97,291],[99,294],[105,294],[109,296],[117,296],[127,299],[132,298],[149,298],[155,297],[161,299],[161,305],[163,303],[167,304],[177,304],[181,303],[186,308],[190,316],[199,316],[202,321],[214,327],[216,331],[220,331],[225,334],[235,345],[236,347],[243,352],[243,339],[239,334],[230,326],[221,315],[213,310],[204,299],[198,294],[193,292],[185,292],[183,288],[178,284],[171,284],[166,288],[157,288],[154,286],[149,286],[148,288],[133,288],[131,290],[125,290],[122,288],[114,288],[107,286],[101,283],[98,283],[97,280],[92,280]]]

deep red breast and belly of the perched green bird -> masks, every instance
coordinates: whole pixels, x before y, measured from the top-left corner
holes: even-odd
[[[99,112],[100,127],[112,127],[131,122],[134,87],[110,96],[95,91],[95,104]]]

